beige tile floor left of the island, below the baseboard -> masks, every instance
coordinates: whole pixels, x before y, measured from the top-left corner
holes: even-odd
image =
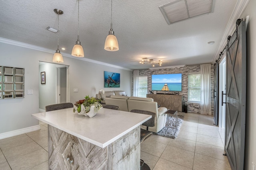
[[[0,140],[0,170],[48,170],[48,128]]]

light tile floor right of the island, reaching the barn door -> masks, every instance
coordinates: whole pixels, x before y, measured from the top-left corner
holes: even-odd
[[[141,143],[141,159],[152,170],[231,170],[224,129],[213,117],[186,113],[176,139],[152,135]]]

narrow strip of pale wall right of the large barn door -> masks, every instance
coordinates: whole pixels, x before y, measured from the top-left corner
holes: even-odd
[[[256,0],[250,0],[242,18],[250,16],[246,30],[247,46],[247,98],[246,98],[246,139],[244,169],[251,170],[252,162],[256,164]],[[234,23],[235,24],[235,23]]]

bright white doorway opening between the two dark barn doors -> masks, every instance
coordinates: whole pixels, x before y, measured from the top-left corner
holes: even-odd
[[[223,94],[222,94],[223,92]],[[219,74],[219,127],[225,128],[226,117],[226,52],[220,61],[220,74]]]

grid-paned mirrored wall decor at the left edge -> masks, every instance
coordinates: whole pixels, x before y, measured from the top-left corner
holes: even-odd
[[[0,99],[24,98],[24,68],[0,66]]]

